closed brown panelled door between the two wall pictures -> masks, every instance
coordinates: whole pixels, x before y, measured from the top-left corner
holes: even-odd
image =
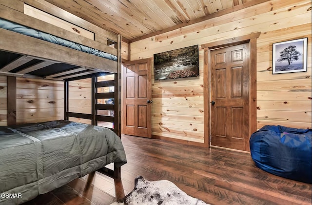
[[[211,145],[249,151],[249,43],[211,51]]]

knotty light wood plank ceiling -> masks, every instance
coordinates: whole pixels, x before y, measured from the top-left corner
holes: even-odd
[[[266,0],[46,1],[132,42]]]

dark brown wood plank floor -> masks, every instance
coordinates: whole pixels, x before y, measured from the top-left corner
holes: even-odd
[[[254,165],[250,154],[218,148],[122,136],[128,163],[122,166],[125,194],[134,179],[169,180],[187,194],[213,205],[311,205],[312,186],[274,176]],[[88,175],[25,205],[109,205],[115,200],[114,180]],[[117,185],[118,187],[122,187]],[[86,189],[86,187],[89,187]],[[119,191],[118,191],[119,192]]]

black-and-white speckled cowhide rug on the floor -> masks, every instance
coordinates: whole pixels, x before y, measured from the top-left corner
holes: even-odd
[[[168,180],[151,182],[137,177],[135,188],[112,205],[207,205],[193,198]]]

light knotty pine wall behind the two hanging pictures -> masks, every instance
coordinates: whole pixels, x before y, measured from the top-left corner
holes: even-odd
[[[270,0],[131,43],[131,60],[261,32],[257,40],[257,128],[311,128],[311,0]],[[308,37],[308,72],[272,75],[272,43]],[[152,134],[203,143],[203,50],[199,79],[152,80]],[[152,73],[154,70],[152,71]],[[152,76],[154,79],[154,76]]]

